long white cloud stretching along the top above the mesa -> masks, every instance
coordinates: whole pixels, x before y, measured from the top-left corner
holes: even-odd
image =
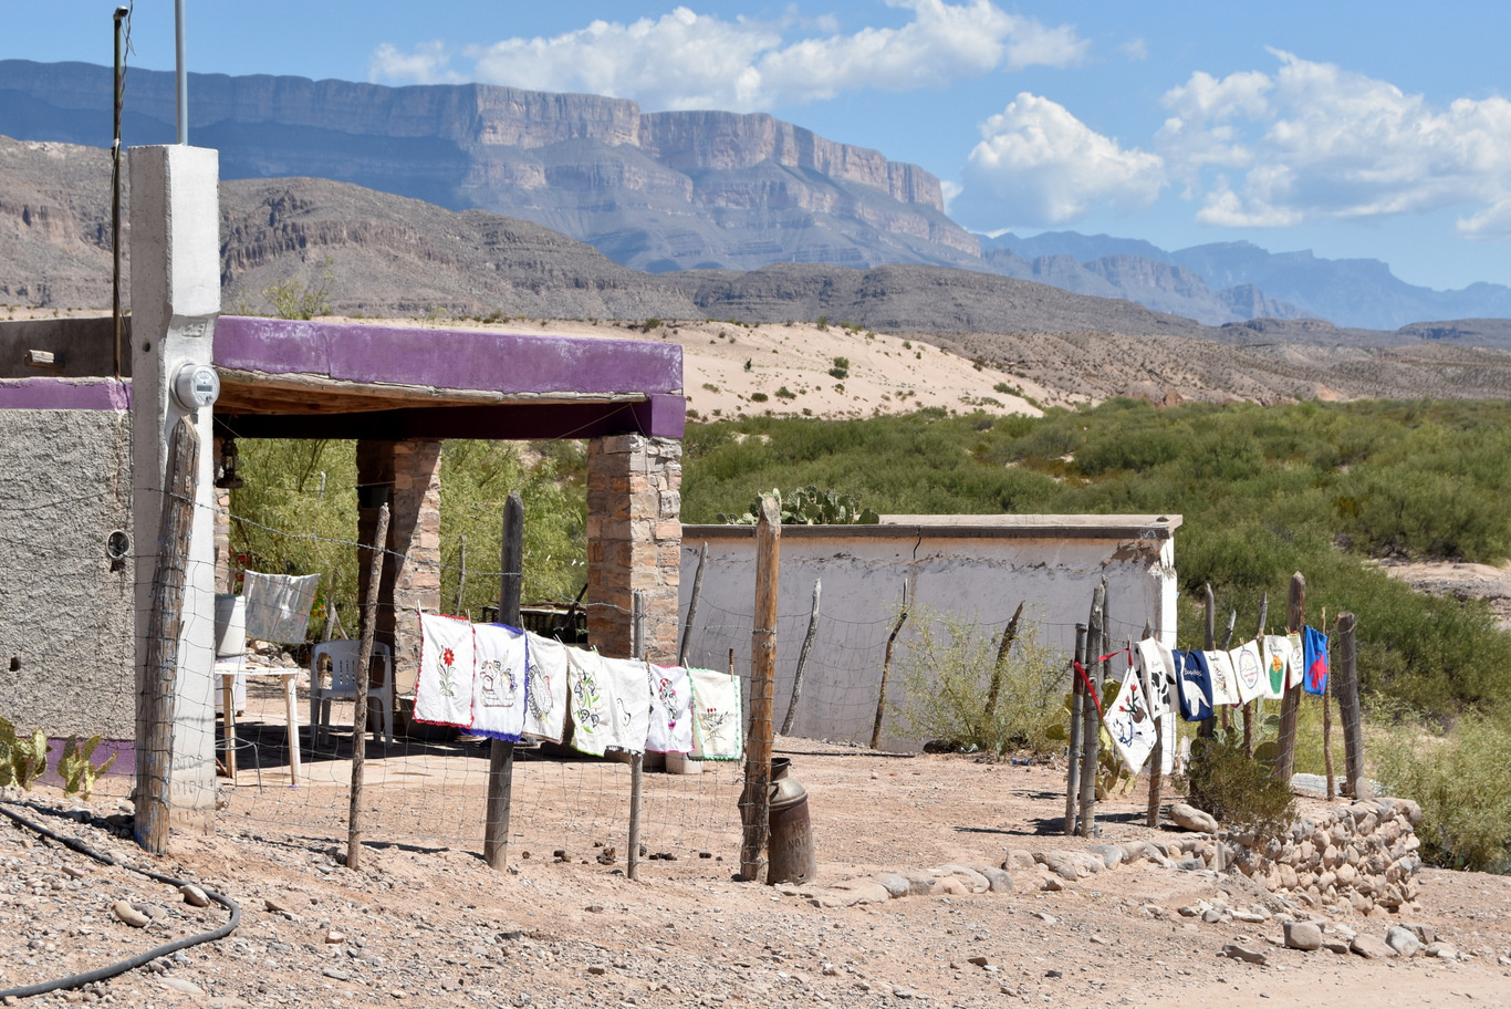
[[[471,45],[470,80],[538,91],[635,98],[647,109],[739,112],[820,101],[842,92],[943,88],[961,77],[1024,66],[1071,66],[1089,42],[990,0],[882,0],[911,14],[901,27],[840,33],[833,18],[725,20],[675,8],[633,23],[594,21],[552,38]],[[817,30],[820,33],[802,35]],[[798,33],[796,38],[789,38]],[[393,83],[459,77],[438,44],[414,53],[382,45],[372,76]]]

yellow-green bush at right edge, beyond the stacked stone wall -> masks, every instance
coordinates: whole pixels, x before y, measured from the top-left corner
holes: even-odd
[[[1378,748],[1378,778],[1422,805],[1422,856],[1448,869],[1511,872],[1511,725],[1470,714],[1448,736],[1396,728]]]

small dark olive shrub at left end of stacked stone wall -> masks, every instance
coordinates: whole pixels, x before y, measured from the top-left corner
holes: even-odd
[[[1186,778],[1191,805],[1224,825],[1274,837],[1290,825],[1295,798],[1290,784],[1277,781],[1269,772],[1269,764],[1257,754],[1244,752],[1241,730],[1218,730],[1216,736],[1191,745]]]

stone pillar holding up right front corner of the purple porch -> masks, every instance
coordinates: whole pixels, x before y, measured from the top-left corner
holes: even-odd
[[[645,654],[677,659],[681,443],[610,435],[588,443],[588,639],[630,656],[633,591],[645,601]]]

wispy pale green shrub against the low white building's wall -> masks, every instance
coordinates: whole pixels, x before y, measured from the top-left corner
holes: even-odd
[[[926,609],[914,610],[908,625],[913,631],[902,639],[898,662],[907,701],[891,710],[905,734],[990,754],[1058,749],[1052,736],[1061,720],[1065,657],[1040,640],[1032,622],[1018,625],[1000,671],[996,627]]]

